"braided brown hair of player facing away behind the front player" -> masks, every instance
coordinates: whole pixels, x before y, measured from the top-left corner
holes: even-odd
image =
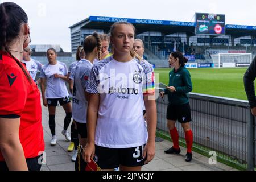
[[[94,50],[95,47],[98,48],[98,60],[101,59],[101,38],[94,32],[92,35],[86,36],[84,39],[84,50],[85,54],[88,54]]]

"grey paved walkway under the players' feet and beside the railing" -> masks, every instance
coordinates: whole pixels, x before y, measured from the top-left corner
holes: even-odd
[[[51,132],[48,126],[48,109],[42,105],[42,122],[44,127],[44,142],[46,144],[46,165],[42,166],[42,171],[74,171],[75,163],[71,161],[73,152],[67,152],[69,142],[61,134],[64,125],[65,112],[60,106],[56,107],[56,146],[51,146]],[[68,128],[70,132],[70,126]],[[172,142],[163,140],[155,143],[155,158],[149,164],[142,167],[143,171],[233,171],[236,170],[225,164],[218,163],[210,165],[209,158],[193,152],[191,162],[185,162],[186,149],[181,147],[180,155],[165,154],[164,149],[172,146]]]

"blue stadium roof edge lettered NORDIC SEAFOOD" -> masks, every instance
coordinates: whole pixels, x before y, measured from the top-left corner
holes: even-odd
[[[113,18],[104,16],[90,16],[79,23],[74,24],[69,28],[85,28],[85,29],[101,29],[108,32],[110,26],[114,22],[125,21],[134,24],[137,34],[147,31],[162,32],[164,35],[170,35],[178,32],[185,32],[186,34],[195,35],[195,22],[175,22],[167,20],[151,20],[151,19],[130,19],[130,18]],[[234,37],[241,37],[246,35],[256,36],[256,26],[243,25],[226,25],[226,35]]]

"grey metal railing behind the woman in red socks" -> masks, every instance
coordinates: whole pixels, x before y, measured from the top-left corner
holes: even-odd
[[[193,149],[204,154],[217,153],[224,163],[242,169],[255,168],[255,120],[247,101],[189,93],[193,131]],[[156,100],[158,131],[170,138],[166,123],[168,97]],[[184,131],[176,123],[180,143]]]

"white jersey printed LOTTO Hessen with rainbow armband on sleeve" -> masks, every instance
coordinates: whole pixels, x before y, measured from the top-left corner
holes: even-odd
[[[113,56],[93,65],[87,92],[100,94],[95,144],[130,148],[147,142],[143,94],[154,93],[154,70],[144,61]]]

